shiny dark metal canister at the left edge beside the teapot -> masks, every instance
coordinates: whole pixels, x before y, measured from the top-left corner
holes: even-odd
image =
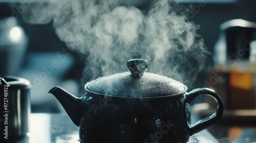
[[[0,84],[1,140],[15,141],[29,132],[31,84],[13,76],[0,76]]]

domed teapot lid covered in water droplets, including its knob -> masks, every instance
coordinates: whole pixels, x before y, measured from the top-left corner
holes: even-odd
[[[186,91],[181,82],[153,73],[146,73],[148,63],[142,59],[127,62],[131,71],[105,76],[87,83],[87,91],[115,97],[156,98],[174,96]]]

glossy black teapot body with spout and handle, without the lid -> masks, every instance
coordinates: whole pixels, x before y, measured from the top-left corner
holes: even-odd
[[[215,124],[223,113],[222,100],[213,90],[198,88],[160,98],[125,98],[87,92],[82,98],[65,90],[51,91],[79,127],[80,142],[187,142],[189,136]],[[189,104],[209,95],[217,111],[191,125]]]

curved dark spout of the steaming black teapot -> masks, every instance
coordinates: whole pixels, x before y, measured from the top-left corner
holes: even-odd
[[[48,93],[52,93],[56,97],[67,112],[70,120],[76,126],[79,126],[83,113],[86,111],[82,108],[86,103],[84,103],[81,98],[73,96],[71,93],[58,86],[53,87]]]

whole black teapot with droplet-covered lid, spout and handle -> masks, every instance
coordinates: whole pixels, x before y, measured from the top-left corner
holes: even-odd
[[[147,61],[127,62],[131,73],[102,77],[87,83],[85,94],[76,98],[60,87],[52,93],[79,127],[80,142],[188,142],[189,137],[216,123],[223,113],[216,92],[187,87],[173,79],[144,73]],[[191,126],[189,104],[200,95],[218,104],[211,116]]]

